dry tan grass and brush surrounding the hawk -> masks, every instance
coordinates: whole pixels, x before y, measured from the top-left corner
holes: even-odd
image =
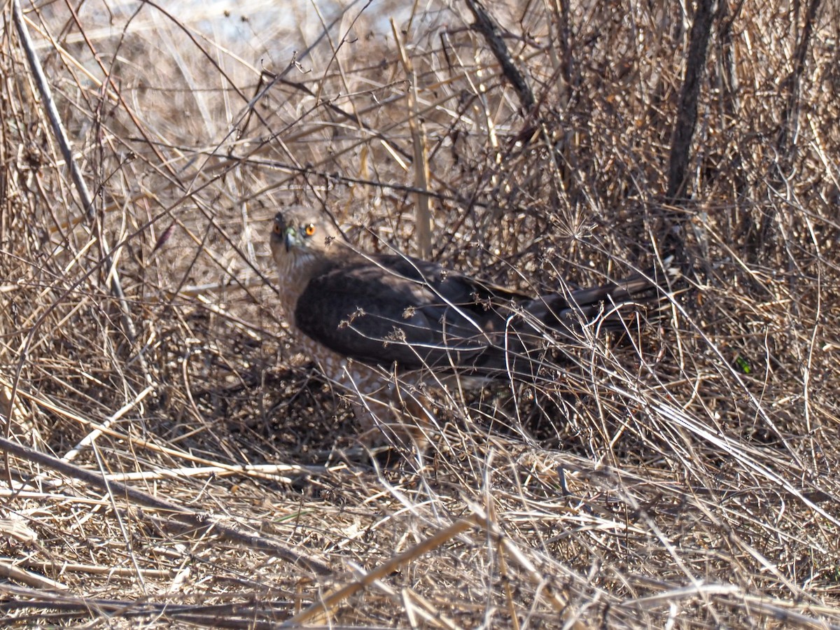
[[[465,3],[184,4],[24,3],[89,212],[3,9],[0,609],[840,626],[836,5],[805,44],[798,3],[717,14],[669,202],[680,3],[493,4],[527,117]],[[292,202],[407,252],[428,203],[434,258],[528,291],[675,239],[688,290],[632,343],[441,400],[425,459],[348,463],[346,401],[273,306]]]

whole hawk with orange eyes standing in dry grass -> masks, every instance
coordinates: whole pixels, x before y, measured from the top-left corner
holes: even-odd
[[[530,297],[433,262],[361,253],[300,207],[277,213],[271,253],[286,318],[328,381],[356,396],[357,417],[386,434],[396,421],[391,435],[420,443],[428,384],[527,377],[547,329],[571,340],[584,323],[623,328],[638,302],[619,307],[659,296],[636,275]],[[402,423],[405,407],[419,424]]]

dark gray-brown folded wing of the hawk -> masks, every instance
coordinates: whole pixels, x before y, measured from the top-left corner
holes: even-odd
[[[368,364],[470,367],[495,351],[505,323],[492,307],[499,298],[440,265],[381,256],[313,278],[298,299],[295,323],[318,343]]]

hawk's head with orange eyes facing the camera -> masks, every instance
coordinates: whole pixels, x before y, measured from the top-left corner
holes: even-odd
[[[327,260],[327,250],[336,237],[326,220],[305,207],[290,207],[277,213],[271,228],[271,255],[281,274],[315,270]]]

